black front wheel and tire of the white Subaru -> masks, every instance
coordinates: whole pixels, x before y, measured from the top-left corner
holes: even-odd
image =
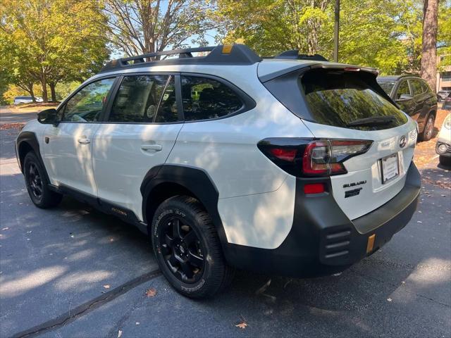
[[[25,185],[30,199],[38,208],[45,209],[57,206],[63,199],[62,194],[49,189],[45,169],[32,151],[27,153],[23,160],[23,175],[25,176]]]

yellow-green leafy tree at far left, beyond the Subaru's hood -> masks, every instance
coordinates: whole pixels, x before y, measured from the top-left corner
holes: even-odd
[[[99,70],[109,54],[100,5],[97,0],[4,0],[0,37],[8,40],[8,49],[0,54],[14,61],[13,78],[39,82],[47,102],[47,85],[56,100],[58,82]]]

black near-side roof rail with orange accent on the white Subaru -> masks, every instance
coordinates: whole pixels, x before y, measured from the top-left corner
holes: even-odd
[[[192,53],[209,51],[206,56],[193,57]],[[156,56],[166,56],[178,54],[178,58],[146,61],[146,58],[155,58]],[[130,63],[133,61],[133,63]],[[220,44],[218,46],[205,46],[189,49],[174,49],[172,51],[159,51],[157,53],[147,53],[128,58],[118,58],[109,61],[101,68],[100,73],[111,70],[118,70],[124,67],[140,67],[142,63],[161,63],[161,64],[196,64],[196,63],[216,63],[233,65],[252,65],[261,61],[260,56],[255,54],[252,49],[244,44]]]

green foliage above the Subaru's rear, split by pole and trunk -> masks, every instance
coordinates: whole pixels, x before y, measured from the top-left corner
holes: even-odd
[[[418,73],[423,1],[340,1],[339,61],[378,68],[382,74]],[[440,1],[438,46],[450,53],[451,1]],[[240,42],[271,56],[288,49],[333,56],[335,1],[218,0],[218,40]]]

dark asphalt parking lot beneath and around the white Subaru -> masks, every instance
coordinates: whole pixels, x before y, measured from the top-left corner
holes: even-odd
[[[35,208],[16,133],[0,130],[0,337],[451,337],[451,173],[433,155],[414,218],[373,256],[310,280],[238,272],[192,301],[134,227],[70,198]]]

